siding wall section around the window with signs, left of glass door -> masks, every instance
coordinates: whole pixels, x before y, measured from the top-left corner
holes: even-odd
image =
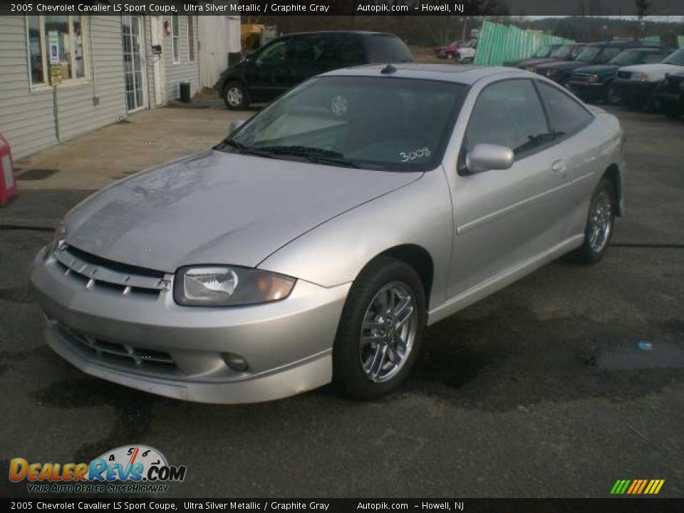
[[[114,123],[126,113],[121,19],[90,16],[86,18],[86,36],[88,81],[57,88],[61,141]],[[58,142],[53,89],[31,89],[26,46],[24,17],[0,16],[0,131],[9,139],[16,158]],[[99,99],[98,105],[93,98]]]

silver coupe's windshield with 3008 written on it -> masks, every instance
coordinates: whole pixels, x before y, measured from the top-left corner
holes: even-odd
[[[342,167],[425,171],[442,158],[466,86],[330,76],[261,110],[217,150]]]

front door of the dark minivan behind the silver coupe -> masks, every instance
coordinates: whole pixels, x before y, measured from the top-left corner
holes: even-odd
[[[291,87],[287,76],[286,54],[289,38],[279,38],[249,58],[244,81],[252,102],[269,102]]]

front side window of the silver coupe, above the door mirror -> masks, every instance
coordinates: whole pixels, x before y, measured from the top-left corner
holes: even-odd
[[[480,143],[499,145],[520,158],[549,139],[549,125],[534,84],[527,79],[511,79],[482,90],[470,115],[464,149]]]

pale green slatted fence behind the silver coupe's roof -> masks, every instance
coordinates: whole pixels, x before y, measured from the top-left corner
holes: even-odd
[[[500,66],[506,61],[530,57],[541,46],[571,42],[569,39],[537,31],[524,31],[517,26],[485,21],[480,29],[475,64]]]

